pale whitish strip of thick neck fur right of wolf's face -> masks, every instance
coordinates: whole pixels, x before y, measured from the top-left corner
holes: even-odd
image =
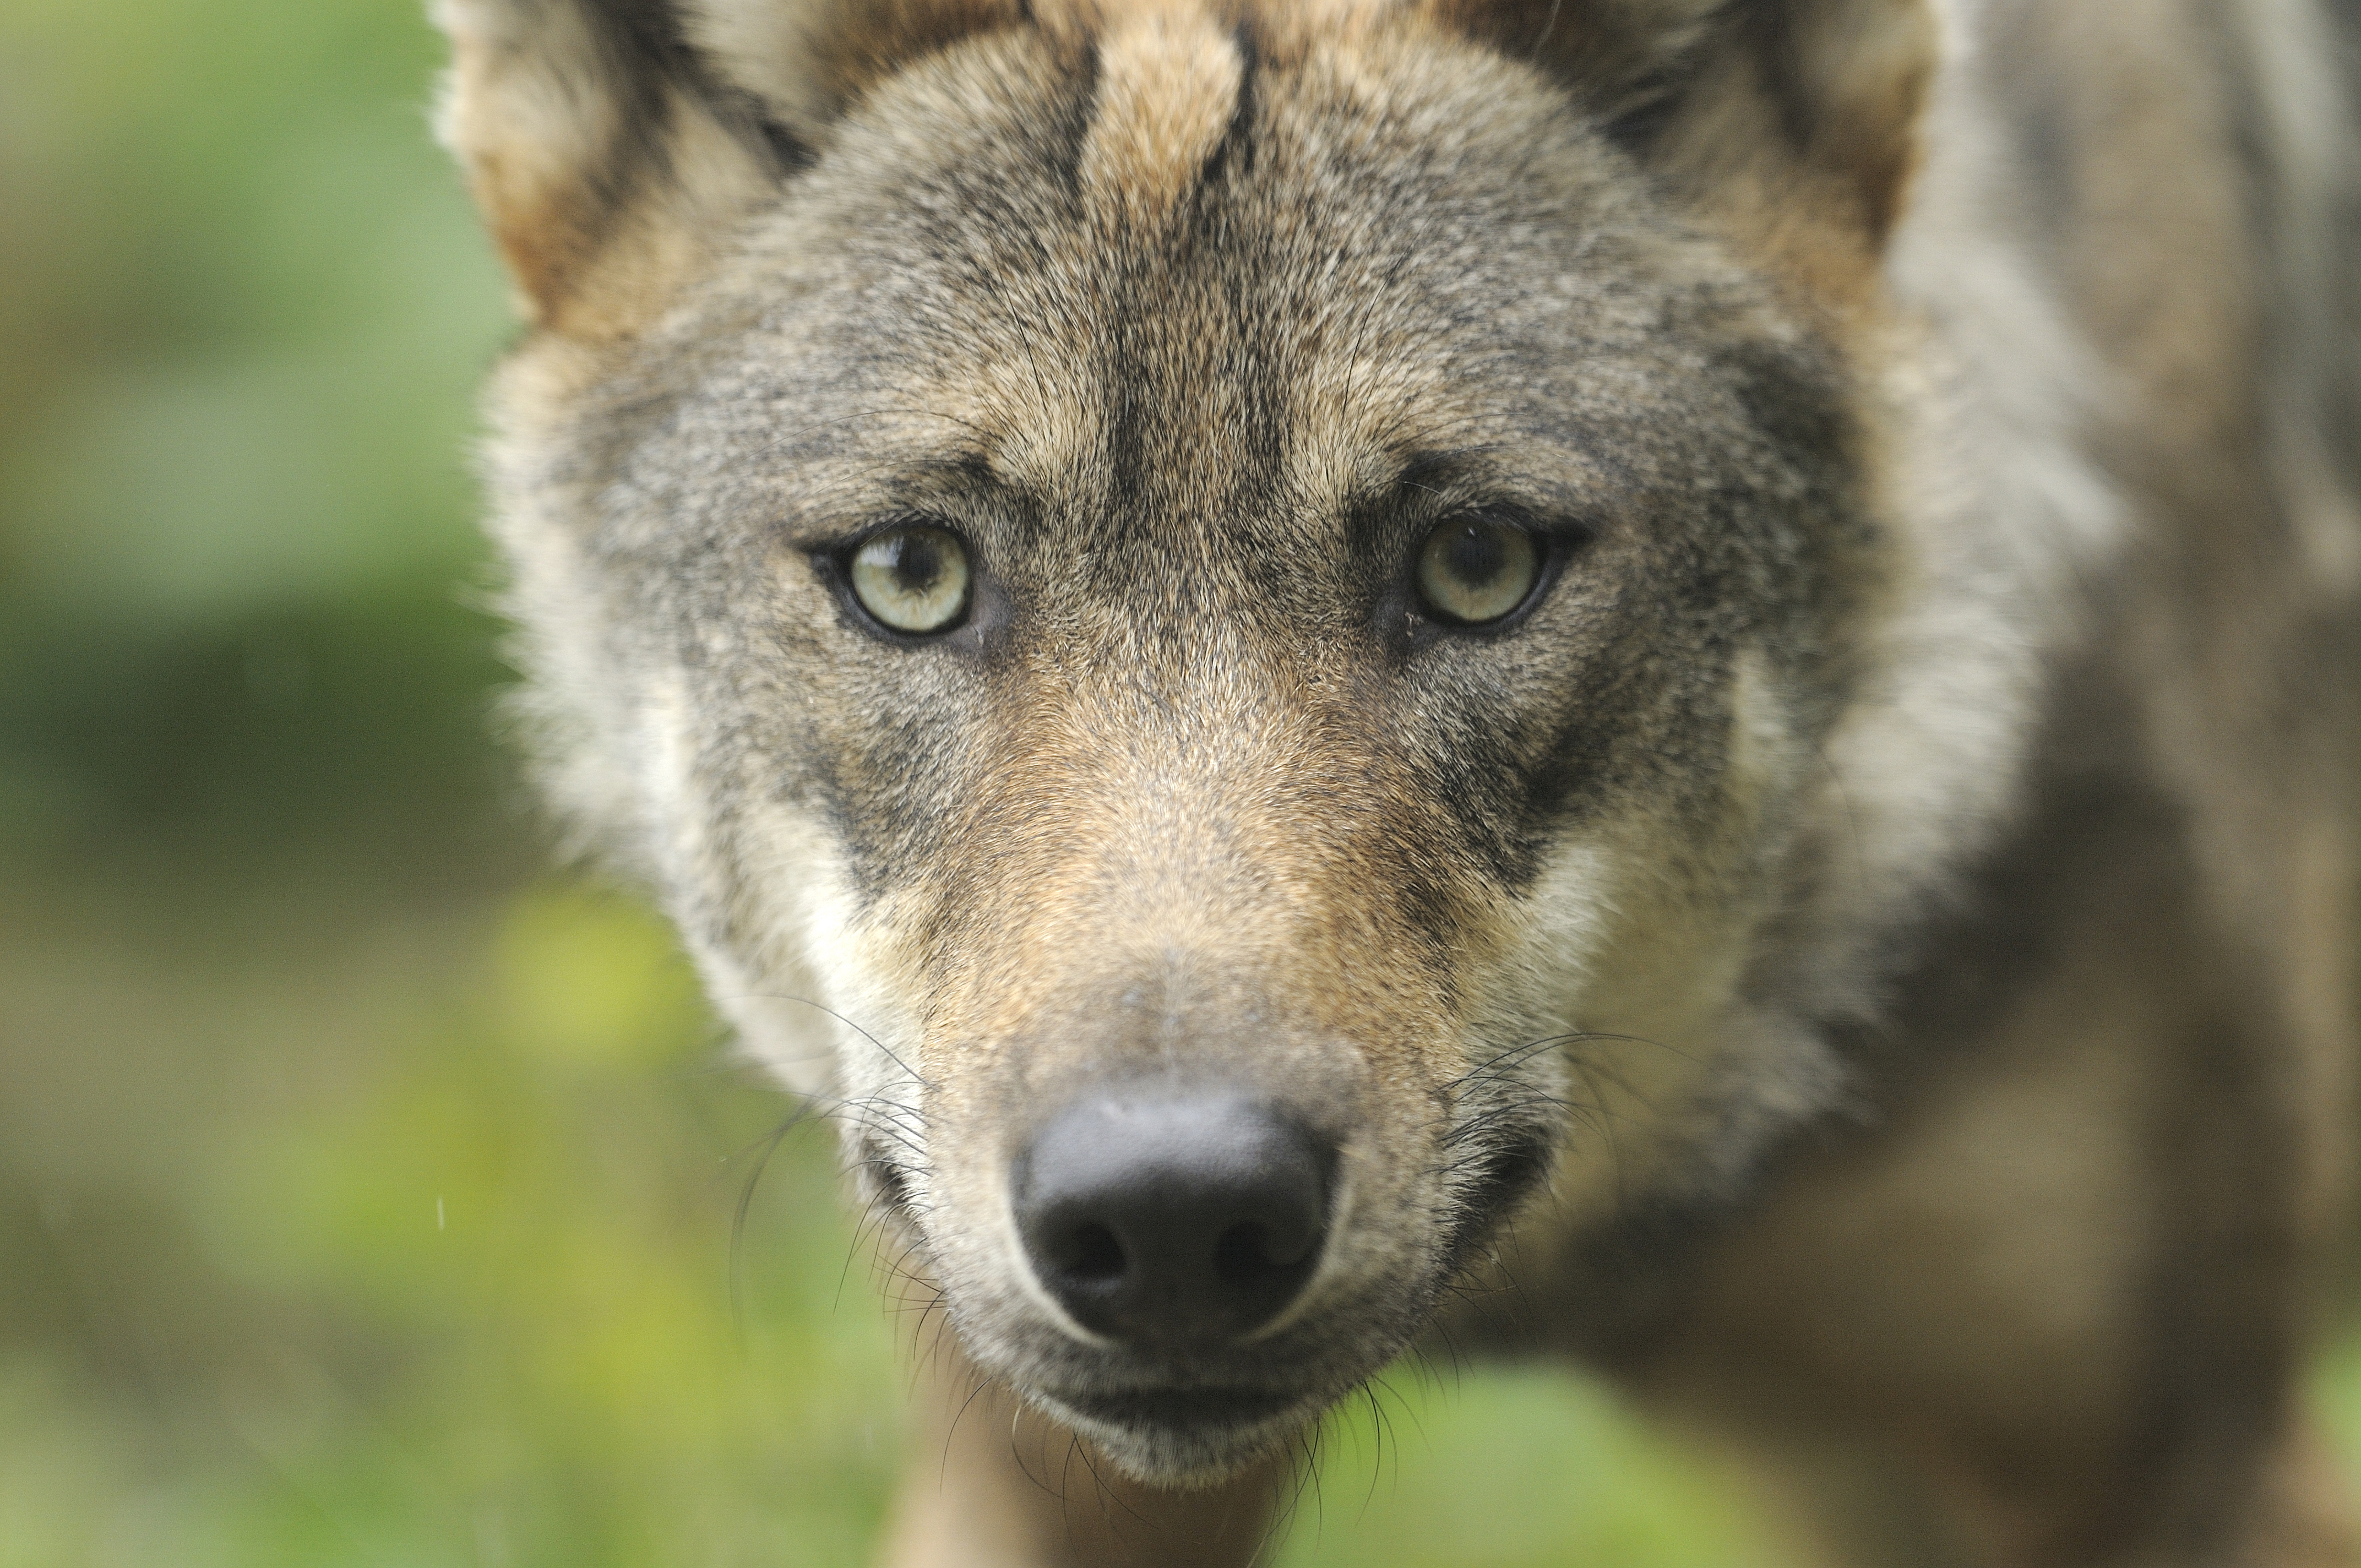
[[[1910,956],[1891,933],[1922,926],[2007,829],[2047,678],[2087,626],[2082,583],[2123,543],[2089,456],[2101,368],[2012,210],[2026,182],[1971,19],[1950,19],[1924,142],[1886,260],[1896,605],[1825,746],[1801,904],[1757,966],[1766,1006],[1825,1023],[1875,1018]]]

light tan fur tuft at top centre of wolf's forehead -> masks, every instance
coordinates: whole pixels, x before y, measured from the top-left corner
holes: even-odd
[[[1110,26],[1098,71],[1081,184],[1107,220],[1162,222],[1228,135],[1237,43],[1195,5],[1147,5]]]

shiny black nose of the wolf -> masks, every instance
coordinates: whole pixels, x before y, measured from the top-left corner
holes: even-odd
[[[1093,1096],[1018,1155],[1018,1230],[1084,1327],[1133,1344],[1235,1339],[1320,1261],[1334,1150],[1242,1096]]]

